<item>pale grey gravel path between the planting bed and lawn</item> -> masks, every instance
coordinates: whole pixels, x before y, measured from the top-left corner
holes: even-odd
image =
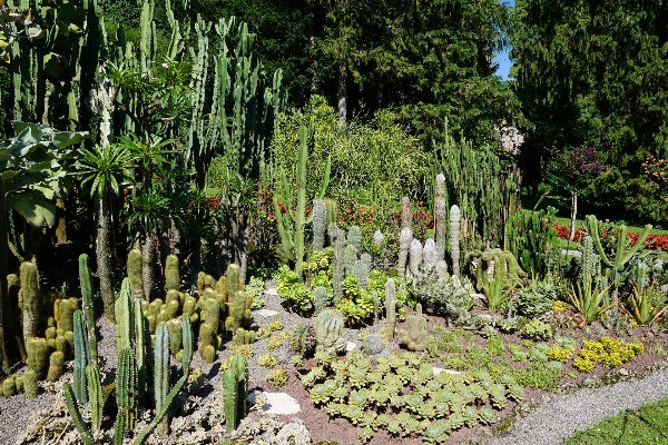
[[[557,396],[536,413],[518,421],[510,434],[488,445],[560,444],[576,432],[587,429],[623,411],[668,397],[668,369],[633,382],[620,382],[596,389]]]

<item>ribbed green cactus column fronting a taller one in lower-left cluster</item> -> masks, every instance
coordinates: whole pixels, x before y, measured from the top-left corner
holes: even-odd
[[[135,416],[137,414],[136,385],[137,363],[135,353],[131,349],[121,349],[118,354],[118,368],[116,369],[118,415],[116,416],[114,442],[118,445],[122,445],[124,436],[135,429]]]

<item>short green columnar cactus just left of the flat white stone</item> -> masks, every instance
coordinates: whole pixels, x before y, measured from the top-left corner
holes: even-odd
[[[223,412],[225,428],[228,432],[236,429],[246,416],[246,357],[237,355],[232,359],[229,368],[223,373]]]

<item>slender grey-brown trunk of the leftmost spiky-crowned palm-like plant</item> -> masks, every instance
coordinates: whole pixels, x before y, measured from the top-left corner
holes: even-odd
[[[111,249],[109,247],[109,236],[111,226],[111,215],[109,212],[109,191],[105,190],[98,199],[98,221],[97,221],[97,239],[95,254],[97,257],[97,275],[100,279],[100,293],[102,294],[102,303],[105,305],[105,318],[108,323],[116,323],[116,314],[114,312],[114,286],[111,284]]]

